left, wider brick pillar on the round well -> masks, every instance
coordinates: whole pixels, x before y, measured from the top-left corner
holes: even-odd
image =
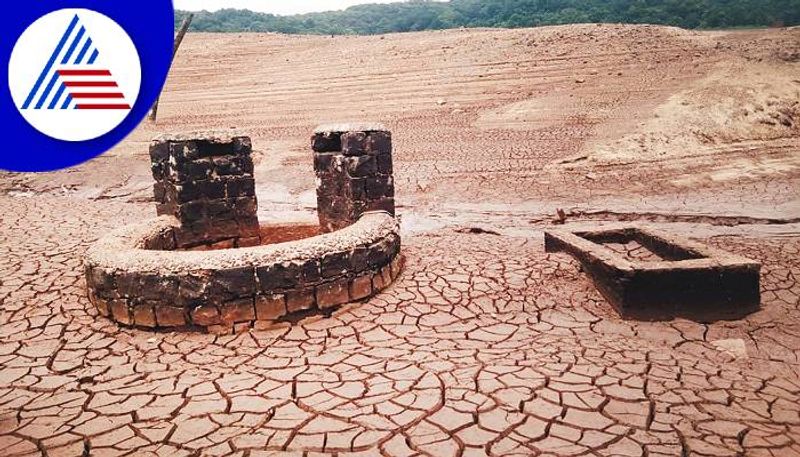
[[[156,209],[180,221],[177,248],[259,244],[251,151],[249,137],[226,132],[153,140]]]

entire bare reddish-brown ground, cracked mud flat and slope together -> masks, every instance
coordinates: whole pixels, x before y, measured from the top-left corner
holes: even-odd
[[[5,455],[800,455],[800,30],[190,34],[160,116],[0,176]],[[394,134],[386,292],[236,336],[96,315],[80,257],[154,213],[151,137],[248,132],[262,219],[313,220],[311,131],[357,120]],[[762,309],[623,321],[544,253],[556,208],[759,260]]]

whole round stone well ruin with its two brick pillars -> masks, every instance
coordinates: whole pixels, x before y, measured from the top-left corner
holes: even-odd
[[[225,333],[363,300],[391,284],[402,256],[390,132],[323,127],[312,147],[322,234],[270,244],[270,233],[286,226],[259,225],[249,138],[154,140],[159,217],[103,237],[86,255],[99,313],[123,325]]]

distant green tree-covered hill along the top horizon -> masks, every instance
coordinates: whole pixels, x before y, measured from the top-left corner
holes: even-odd
[[[176,27],[186,14],[176,12]],[[196,13],[191,30],[371,35],[587,22],[662,24],[690,29],[791,26],[800,24],[800,0],[411,0],[294,16],[224,9]]]

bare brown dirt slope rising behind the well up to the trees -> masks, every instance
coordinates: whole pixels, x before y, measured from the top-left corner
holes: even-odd
[[[314,125],[367,119],[394,131],[400,200],[422,212],[470,202],[796,217],[798,55],[798,29],[190,34],[157,125],[78,171],[15,186],[147,198],[149,138],[235,127],[254,138],[262,206],[296,209],[313,205]]]

